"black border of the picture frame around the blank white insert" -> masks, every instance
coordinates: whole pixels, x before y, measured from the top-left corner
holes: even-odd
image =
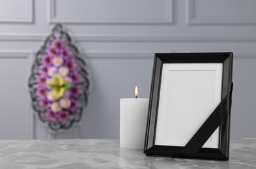
[[[185,146],[156,144],[156,135],[158,134],[156,130],[157,130],[157,123],[158,123],[158,110],[160,109],[159,101],[161,98],[160,91],[162,87],[161,82],[162,82],[162,74],[163,74],[162,71],[163,71],[164,64],[221,64],[222,65],[220,97],[221,97],[221,103],[224,101],[225,107],[227,107],[228,105],[228,108],[225,110],[225,112],[227,112],[227,116],[225,116],[225,119],[224,118],[222,119],[222,117],[220,118],[222,121],[219,127],[220,132],[218,137],[218,148],[201,148],[200,147],[197,150],[192,148],[192,149],[189,149],[189,150],[192,150],[190,152],[190,151],[184,151]],[[148,112],[148,118],[147,118],[147,129],[145,134],[144,153],[146,155],[151,155],[151,156],[184,157],[184,158],[195,158],[195,159],[216,159],[216,160],[223,160],[223,161],[229,160],[229,133],[230,133],[230,129],[229,129],[230,114],[229,113],[231,111],[231,98],[232,98],[231,93],[233,90],[232,73],[233,73],[233,53],[231,52],[227,52],[227,53],[156,53],[154,57],[154,68],[152,73],[152,83],[151,83],[151,90],[150,90],[149,112]],[[224,99],[226,99],[227,101],[225,101]],[[216,109],[218,109],[218,107]],[[223,108],[221,108],[221,110],[223,111]],[[218,110],[214,110],[214,111],[217,113],[220,112]],[[220,114],[218,116],[222,116]],[[207,120],[209,121],[209,119],[210,117]],[[208,132],[207,128],[205,132],[206,133]],[[193,137],[195,136],[196,135],[193,135]],[[198,139],[195,139],[195,140],[198,140]],[[195,142],[192,142],[192,144],[194,143]],[[202,142],[201,144],[203,145],[203,143],[204,142]]]

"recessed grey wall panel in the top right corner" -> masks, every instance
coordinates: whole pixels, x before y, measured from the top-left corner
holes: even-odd
[[[186,0],[188,24],[256,24],[256,1]]]

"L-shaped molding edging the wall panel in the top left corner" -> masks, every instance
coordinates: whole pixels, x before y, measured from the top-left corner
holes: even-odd
[[[26,1],[25,16],[0,16],[0,23],[33,23],[33,0]]]

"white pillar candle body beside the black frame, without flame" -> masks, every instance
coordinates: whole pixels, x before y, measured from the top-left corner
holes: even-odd
[[[149,99],[120,99],[120,146],[143,149]]]

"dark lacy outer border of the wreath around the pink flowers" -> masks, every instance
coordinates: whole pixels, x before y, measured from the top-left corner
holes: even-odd
[[[71,59],[76,61],[78,64],[76,71],[81,75],[81,82],[78,83],[81,86],[82,93],[76,98],[79,102],[79,107],[74,112],[68,110],[70,116],[72,116],[72,120],[67,123],[58,123],[58,122],[49,122],[46,119],[46,110],[42,109],[39,105],[39,99],[36,96],[36,89],[38,88],[38,84],[36,83],[36,79],[39,76],[38,68],[42,64],[42,57],[46,54],[46,49],[50,46],[51,42],[55,40],[55,38],[61,38],[64,40],[64,44],[66,48],[72,51]],[[33,66],[31,68],[31,75],[29,77],[29,92],[32,100],[33,110],[36,112],[38,118],[42,123],[45,123],[50,128],[52,133],[59,133],[70,129],[74,123],[79,123],[83,114],[83,109],[88,104],[89,99],[89,91],[91,89],[91,74],[89,73],[87,63],[83,60],[83,55],[78,50],[78,47],[74,45],[72,38],[68,34],[68,32],[64,31],[63,25],[58,23],[53,27],[51,34],[47,36],[44,44],[40,48],[40,50],[35,54],[35,60],[33,62]]]

